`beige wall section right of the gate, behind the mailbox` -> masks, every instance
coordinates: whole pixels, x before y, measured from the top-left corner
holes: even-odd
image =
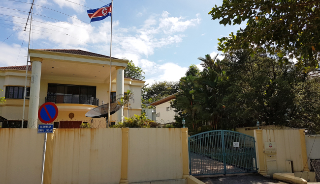
[[[256,138],[256,130],[255,130]],[[286,160],[292,160],[293,172],[303,171],[301,139],[299,130],[262,130],[264,162],[268,175],[286,173]],[[276,142],[277,151],[266,153],[264,143]],[[257,148],[257,145],[256,145]],[[257,152],[258,153],[258,152]],[[257,154],[257,157],[260,157]],[[257,159],[259,160],[259,159]],[[259,164],[259,163],[258,163]]]

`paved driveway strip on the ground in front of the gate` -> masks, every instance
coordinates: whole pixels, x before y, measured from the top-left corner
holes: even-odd
[[[259,174],[196,176],[205,184],[287,184]]]

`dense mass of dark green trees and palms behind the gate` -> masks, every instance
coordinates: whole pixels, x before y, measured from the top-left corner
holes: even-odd
[[[176,124],[184,118],[192,134],[255,126],[257,120],[320,131],[320,79],[309,79],[294,63],[279,65],[276,58],[246,51],[214,58],[200,57],[200,75],[180,79],[171,102]]]

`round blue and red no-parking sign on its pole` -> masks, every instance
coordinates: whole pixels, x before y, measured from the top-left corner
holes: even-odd
[[[55,121],[58,116],[58,107],[54,103],[47,102],[40,106],[38,111],[38,118],[42,123],[48,124]],[[43,154],[42,154],[42,172],[41,184],[43,184],[44,160],[46,156],[47,133],[53,133],[53,124],[38,125],[38,133],[44,133],[43,140]]]

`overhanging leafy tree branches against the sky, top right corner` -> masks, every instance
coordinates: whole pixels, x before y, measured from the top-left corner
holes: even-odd
[[[244,29],[218,39],[219,51],[277,54],[280,63],[297,58],[300,67],[318,67],[320,0],[224,0],[209,14],[224,26],[247,20]]]

